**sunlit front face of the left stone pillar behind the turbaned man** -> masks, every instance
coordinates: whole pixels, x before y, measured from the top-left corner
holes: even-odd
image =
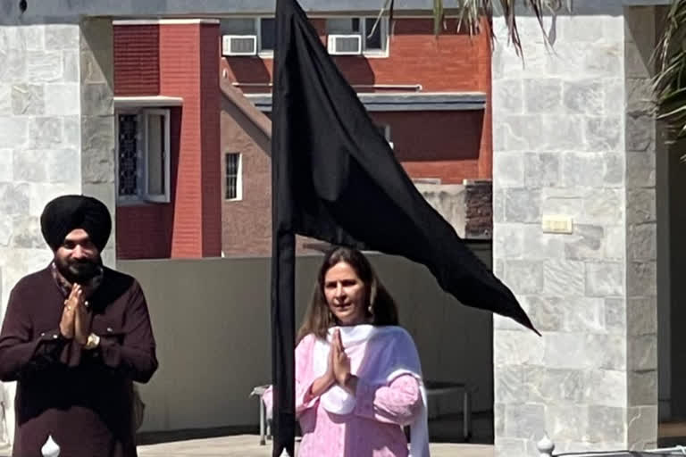
[[[79,193],[79,25],[0,27],[2,301],[51,253],[38,218],[52,197]]]

